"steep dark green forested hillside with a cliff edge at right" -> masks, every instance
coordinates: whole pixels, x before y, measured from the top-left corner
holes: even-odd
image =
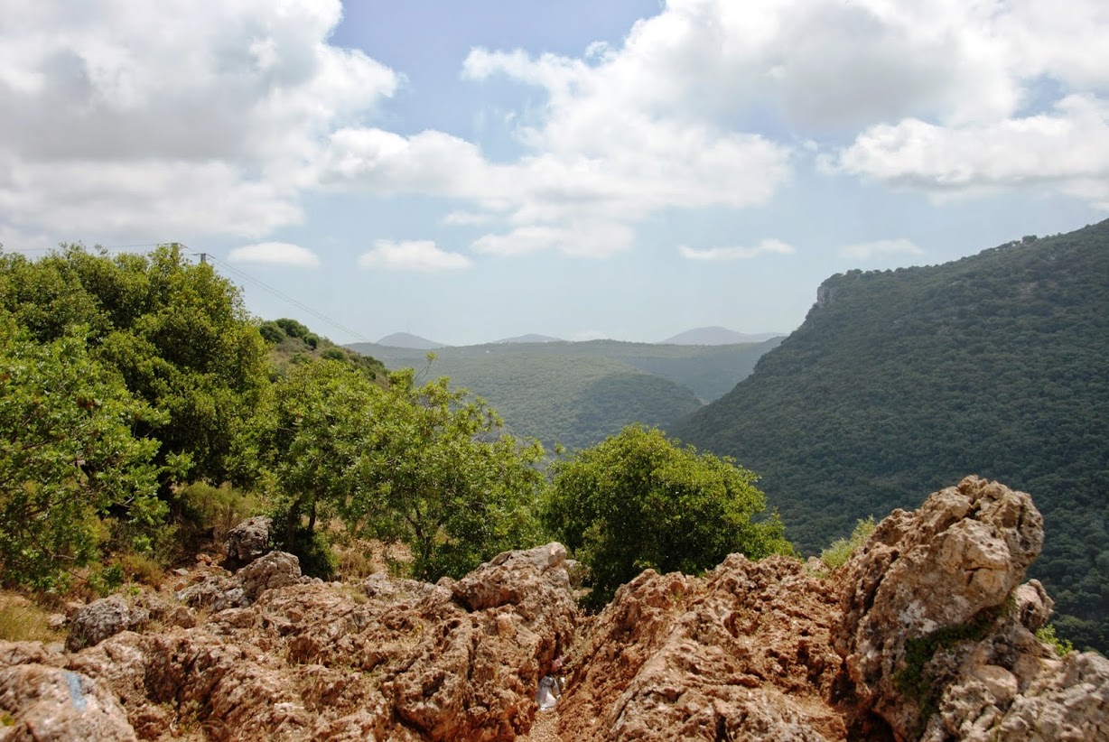
[[[762,475],[806,552],[967,474],[1027,490],[1060,633],[1109,649],[1109,222],[828,278],[805,323],[673,430]]]

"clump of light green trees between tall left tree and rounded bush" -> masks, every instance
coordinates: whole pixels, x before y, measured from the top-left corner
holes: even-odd
[[[271,480],[294,552],[317,520],[339,517],[358,536],[407,543],[417,577],[458,577],[538,538],[542,449],[499,426],[445,378],[417,386],[400,372],[381,388],[321,360],[274,384],[244,460]]]

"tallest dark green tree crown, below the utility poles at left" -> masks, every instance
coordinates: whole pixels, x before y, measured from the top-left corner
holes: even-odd
[[[138,420],[133,435],[161,444],[164,497],[185,470],[226,478],[266,383],[266,349],[238,289],[211,265],[190,264],[176,245],[115,257],[71,245],[35,262],[3,254],[0,306],[39,343],[87,326],[90,357],[162,413],[159,425]]]

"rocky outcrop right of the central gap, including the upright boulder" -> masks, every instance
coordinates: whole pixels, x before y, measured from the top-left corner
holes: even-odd
[[[563,739],[1109,739],[1109,662],[1059,659],[1020,585],[1031,499],[969,477],[896,511],[831,578],[731,556],[644,572],[579,644]]]

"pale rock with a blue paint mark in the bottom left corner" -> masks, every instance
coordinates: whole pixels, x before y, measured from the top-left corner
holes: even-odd
[[[2,644],[0,644],[2,652]],[[88,675],[39,663],[0,667],[0,739],[131,742],[134,730],[114,693]]]

